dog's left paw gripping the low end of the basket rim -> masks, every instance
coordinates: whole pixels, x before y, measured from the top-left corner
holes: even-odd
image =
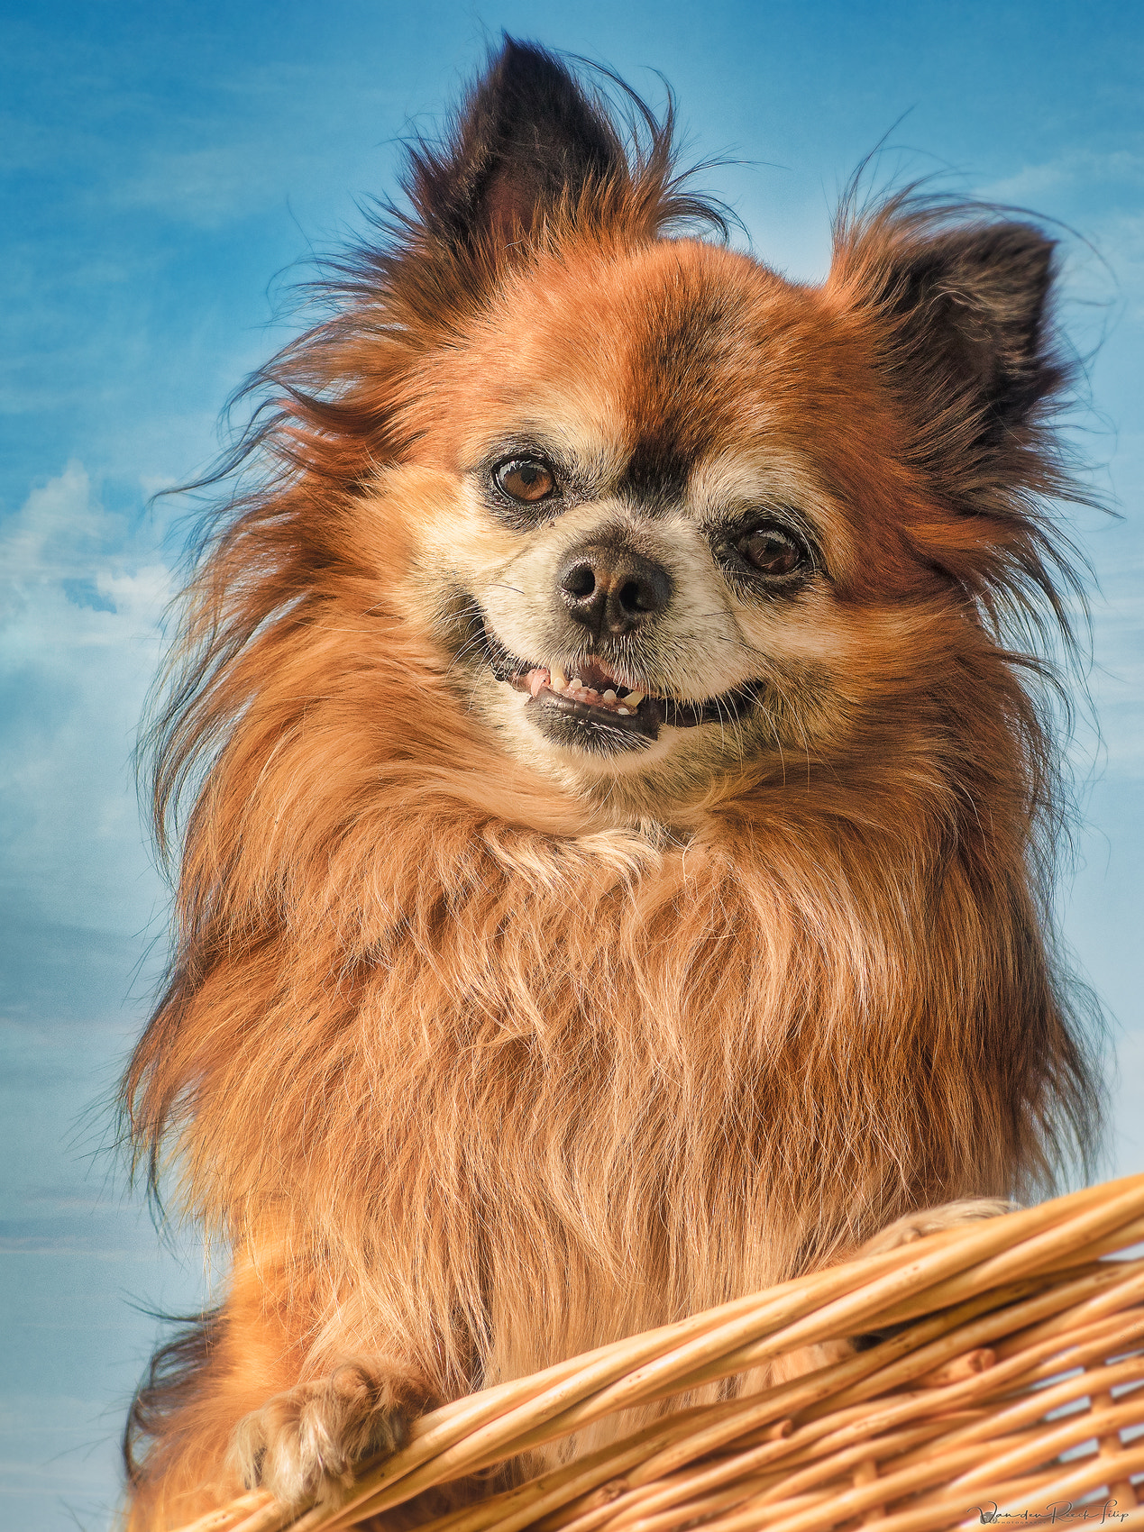
[[[405,1428],[390,1373],[347,1360],[239,1420],[232,1455],[247,1489],[262,1486],[285,1504],[299,1504],[348,1485],[362,1458],[396,1452]]]

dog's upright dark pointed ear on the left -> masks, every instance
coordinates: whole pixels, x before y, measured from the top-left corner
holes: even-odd
[[[426,234],[460,253],[528,239],[616,175],[627,161],[601,107],[552,54],[506,38],[451,141],[414,150],[409,192]]]

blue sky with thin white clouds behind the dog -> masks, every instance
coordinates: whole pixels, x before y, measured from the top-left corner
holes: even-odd
[[[1113,1017],[1107,1169],[1144,1169],[1144,17],[1138,5],[0,5],[0,1520],[104,1527],[115,1437],[202,1262],[124,1195],[106,1102],[164,890],[132,735],[186,525],[149,495],[212,458],[221,404],[291,332],[313,251],[391,190],[501,28],[679,98],[754,250],[823,273],[879,173],[1061,221],[1089,366],[1077,440],[1123,519],[1100,576],[1066,933]],[[1100,343],[1100,345],[1098,345]]]

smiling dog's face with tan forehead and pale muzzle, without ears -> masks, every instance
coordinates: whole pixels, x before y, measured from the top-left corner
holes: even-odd
[[[463,705],[595,798],[797,774],[949,593],[905,544],[860,346],[744,256],[564,248],[426,385],[390,490],[417,507],[409,599]]]

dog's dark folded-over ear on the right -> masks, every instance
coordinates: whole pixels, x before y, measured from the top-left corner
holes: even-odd
[[[842,250],[877,308],[879,365],[914,424],[914,452],[972,509],[1044,487],[1044,411],[1067,381],[1046,308],[1054,242],[1029,224],[949,227],[891,207]]]

